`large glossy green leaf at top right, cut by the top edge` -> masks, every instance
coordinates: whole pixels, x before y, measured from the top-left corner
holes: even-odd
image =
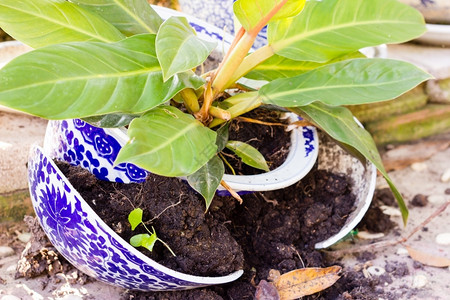
[[[326,0],[309,1],[300,15],[271,23],[268,39],[278,55],[326,62],[425,32],[422,15],[397,0]]]

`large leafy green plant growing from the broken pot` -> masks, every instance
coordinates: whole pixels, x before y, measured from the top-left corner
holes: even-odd
[[[375,164],[406,222],[375,143],[345,106],[390,100],[430,78],[359,52],[420,36],[420,13],[396,0],[238,0],[234,13],[242,26],[224,60],[197,76],[192,69],[215,44],[183,17],[163,21],[146,0],[2,0],[0,26],[35,50],[0,71],[0,104],[47,119],[128,125],[116,164],[187,176],[207,207],[225,169],[218,125],[262,105],[287,109]],[[251,52],[266,25],[267,46]],[[236,89],[242,77],[267,83]]]

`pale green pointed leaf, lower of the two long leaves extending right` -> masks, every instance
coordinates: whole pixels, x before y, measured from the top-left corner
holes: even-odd
[[[283,107],[314,101],[353,105],[393,99],[430,78],[425,71],[403,61],[353,59],[274,80],[259,94],[263,103]]]

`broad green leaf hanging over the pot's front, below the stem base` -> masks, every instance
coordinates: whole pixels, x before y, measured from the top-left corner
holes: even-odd
[[[134,119],[128,136],[130,141],[115,163],[134,163],[162,176],[190,175],[217,151],[216,133],[172,106],[157,107]]]

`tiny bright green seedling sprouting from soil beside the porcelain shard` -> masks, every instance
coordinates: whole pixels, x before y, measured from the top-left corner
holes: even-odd
[[[138,227],[140,224],[144,226],[145,230],[147,230],[148,233],[143,234],[137,234],[130,239],[130,244],[133,247],[144,247],[150,251],[153,251],[153,247],[155,246],[155,243],[157,241],[161,242],[169,251],[172,253],[173,256],[176,256],[175,253],[170,249],[169,245],[167,245],[163,240],[158,238],[156,235],[155,228],[152,226],[152,231],[150,231],[147,226],[145,226],[144,222],[142,222],[142,215],[143,210],[141,208],[135,208],[130,214],[128,215],[128,221],[131,225],[131,230],[135,230],[136,227]]]

